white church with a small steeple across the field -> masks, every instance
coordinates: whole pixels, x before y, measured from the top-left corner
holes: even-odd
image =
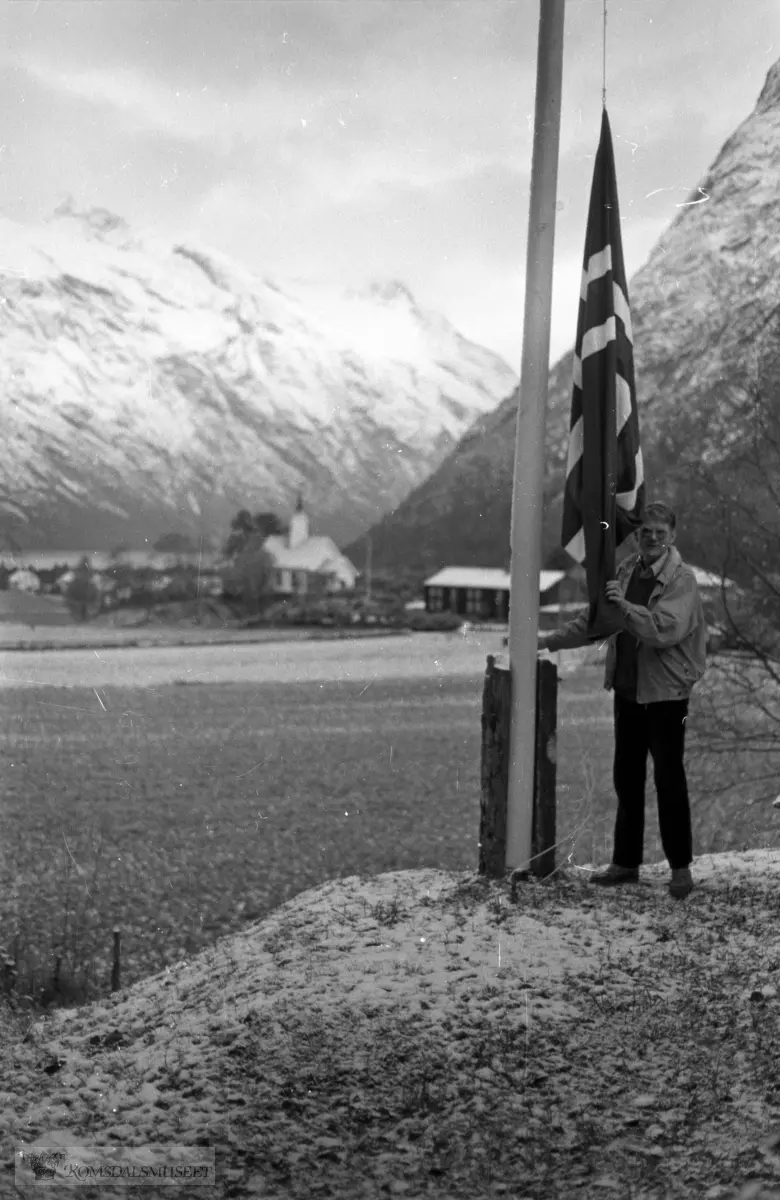
[[[302,498],[286,536],[266,538],[263,548],[274,559],[272,590],[277,595],[312,595],[354,588],[358,569],[331,538],[312,538]]]

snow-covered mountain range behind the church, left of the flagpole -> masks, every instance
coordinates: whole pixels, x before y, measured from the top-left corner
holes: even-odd
[[[2,524],[26,548],[224,533],[239,508],[355,536],[516,376],[422,311],[260,277],[71,202],[0,220]]]

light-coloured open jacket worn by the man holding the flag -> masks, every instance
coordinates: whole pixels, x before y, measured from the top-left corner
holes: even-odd
[[[616,642],[625,630],[637,638],[638,704],[652,704],[659,700],[685,700],[694,685],[707,670],[707,624],[698,595],[696,576],[683,562],[676,546],[670,546],[647,601],[647,607],[629,604],[625,590],[638,554],[623,559],[617,570],[623,599],[605,606],[605,612],[614,608],[614,632],[607,637],[607,659],[604,686],[612,690],[617,662]],[[589,646],[588,612],[586,605],[574,620],[550,635],[551,650],[570,650]]]

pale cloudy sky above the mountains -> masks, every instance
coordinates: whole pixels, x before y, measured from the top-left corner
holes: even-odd
[[[0,212],[66,194],[281,281],[401,278],[520,367],[538,0],[0,6]],[[566,5],[552,354],[574,341],[601,0]],[[780,58],[776,0],[608,4],[629,275]]]

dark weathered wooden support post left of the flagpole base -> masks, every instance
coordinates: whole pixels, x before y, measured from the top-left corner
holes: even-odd
[[[511,676],[500,656],[487,655],[482,688],[482,762],[479,874],[500,878],[506,860]]]

